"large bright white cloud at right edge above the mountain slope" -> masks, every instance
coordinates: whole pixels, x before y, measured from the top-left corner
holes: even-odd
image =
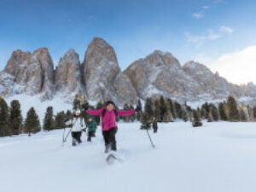
[[[206,55],[198,55],[196,61],[209,64],[213,72],[223,76],[235,84],[256,83],[256,46],[249,46],[239,51],[212,59]]]

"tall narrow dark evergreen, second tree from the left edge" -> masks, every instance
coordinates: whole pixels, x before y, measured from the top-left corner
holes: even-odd
[[[18,100],[13,100],[10,104],[9,131],[12,135],[18,135],[22,132],[22,114]]]

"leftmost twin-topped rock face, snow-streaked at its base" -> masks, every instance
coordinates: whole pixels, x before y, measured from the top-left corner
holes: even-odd
[[[14,94],[42,94],[42,99],[53,96],[54,70],[48,49],[30,52],[14,51],[3,70],[15,78]]]

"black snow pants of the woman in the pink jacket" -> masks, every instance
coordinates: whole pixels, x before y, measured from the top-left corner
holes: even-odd
[[[108,150],[108,148],[111,148],[111,150],[116,151],[115,134],[117,130],[117,127],[113,127],[108,131],[102,131],[106,150]]]

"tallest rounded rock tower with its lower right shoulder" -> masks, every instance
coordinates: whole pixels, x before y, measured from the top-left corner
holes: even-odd
[[[137,101],[136,90],[120,71],[113,47],[102,38],[94,38],[89,44],[83,65],[85,90],[90,100]]]

